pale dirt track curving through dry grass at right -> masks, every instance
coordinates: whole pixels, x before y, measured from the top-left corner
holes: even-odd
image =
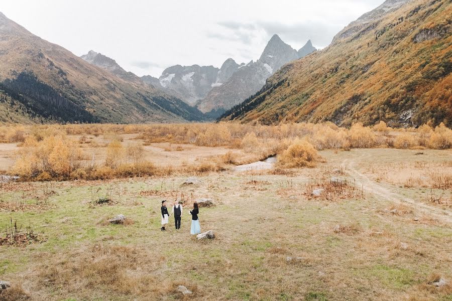
[[[419,201],[415,201],[413,199],[407,198],[401,194],[393,192],[388,187],[384,187],[383,185],[373,181],[365,174],[361,173],[357,169],[358,162],[365,162],[366,160],[371,160],[370,155],[361,154],[356,158],[346,159],[343,161],[344,167],[347,169],[347,172],[351,177],[355,178],[356,182],[360,185],[364,185],[364,190],[368,191],[378,198],[383,200],[391,201],[397,204],[409,204],[412,205],[415,209],[428,213],[437,217],[438,219],[445,221],[447,223],[452,224],[452,213],[444,208],[438,208],[435,206],[431,206]]]

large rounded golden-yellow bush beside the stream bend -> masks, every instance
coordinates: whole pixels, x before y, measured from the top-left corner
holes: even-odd
[[[312,144],[296,140],[278,157],[278,165],[285,168],[315,167],[318,159]]]

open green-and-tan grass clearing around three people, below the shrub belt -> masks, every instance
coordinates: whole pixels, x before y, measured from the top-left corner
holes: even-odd
[[[0,299],[450,300],[450,284],[433,282],[452,282],[452,192],[434,176],[450,179],[452,152],[319,154],[314,169],[231,170],[194,186],[181,186],[186,176],[3,184],[0,228],[12,219],[40,241],[0,246],[0,280],[13,284]],[[170,217],[162,232],[160,201],[176,197],[182,227]],[[199,198],[216,204],[199,214],[213,240],[189,234]],[[106,222],[118,214],[130,222]]]

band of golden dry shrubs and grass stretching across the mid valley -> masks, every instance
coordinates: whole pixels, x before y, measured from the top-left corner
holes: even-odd
[[[162,176],[190,172],[202,174],[224,170],[228,165],[255,162],[276,154],[281,155],[281,160],[287,157],[280,169],[283,166],[312,167],[316,161],[311,158],[313,154],[309,154],[313,153],[312,148],[307,149],[305,145],[303,152],[300,153],[301,149],[298,148],[298,154],[293,153],[295,144],[301,143],[300,140],[312,144],[314,149],[332,149],[335,152],[340,149],[382,146],[413,148],[420,145],[444,149],[452,145],[452,130],[442,124],[434,129],[424,125],[419,129],[406,130],[389,128],[384,123],[373,128],[356,123],[347,129],[339,128],[331,122],[276,126],[230,123],[8,125],[0,126],[0,129],[0,141],[20,143],[19,158],[10,172],[25,179],[41,181]],[[154,145],[169,154],[160,154]],[[185,154],[174,153],[199,154],[200,149],[192,149],[193,147],[220,147],[222,153],[211,154],[210,158],[208,155],[203,156],[200,163],[194,162],[195,159],[189,164],[179,162],[176,166],[174,159],[185,158]],[[227,148],[237,150],[229,153]],[[150,157],[147,154],[151,150],[153,156]],[[149,162],[160,162],[162,159],[165,161],[163,171],[160,171],[160,167],[157,170],[150,167]],[[14,160],[11,154],[8,155],[8,160]],[[11,164],[5,163],[5,167]],[[186,167],[179,168],[181,165]]]

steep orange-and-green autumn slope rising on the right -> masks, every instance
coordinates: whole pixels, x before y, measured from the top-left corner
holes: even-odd
[[[220,120],[452,126],[451,16],[450,0],[387,1]]]

